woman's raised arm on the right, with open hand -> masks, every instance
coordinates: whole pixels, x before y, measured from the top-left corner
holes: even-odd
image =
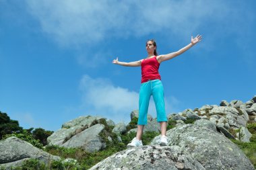
[[[174,58],[175,56],[179,56],[180,54],[189,50],[189,48],[191,48],[192,46],[197,44],[197,42],[200,42],[201,38],[202,38],[202,36],[199,36],[199,35],[197,35],[195,38],[193,38],[193,36],[191,36],[191,43],[190,44],[181,48],[177,52],[172,52],[172,53],[169,53],[169,54],[159,55],[158,58],[157,58],[158,62],[162,62],[162,61],[165,61],[165,60],[170,60],[170,59]]]

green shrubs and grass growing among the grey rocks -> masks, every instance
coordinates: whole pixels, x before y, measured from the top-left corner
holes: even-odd
[[[206,110],[205,112],[206,115],[209,114],[209,110]],[[195,122],[195,120],[187,119],[185,124],[193,124],[193,122]],[[61,146],[43,147],[46,145],[46,138],[48,138],[48,136],[53,133],[52,131],[44,130],[42,128],[30,128],[28,130],[24,130],[19,126],[18,121],[11,120],[7,114],[2,112],[0,112],[0,137],[2,138],[3,136],[3,139],[5,139],[9,136],[16,136],[22,140],[30,142],[38,148],[42,148],[47,153],[61,157],[61,160],[49,160],[49,163],[47,164],[43,163],[42,161],[38,161],[38,159],[29,159],[24,161],[21,167],[15,167],[13,169],[90,169],[90,167],[96,165],[96,163],[102,161],[103,159],[110,157],[110,155],[127,149],[127,144],[136,135],[136,132],[130,132],[126,134],[120,134],[118,136],[112,132],[113,126],[108,126],[105,119],[95,120],[90,126],[93,126],[94,124],[104,124],[105,128],[100,133],[100,136],[104,142],[106,142],[106,148],[104,148],[104,150],[94,153],[88,153],[82,148],[64,148]],[[167,130],[174,128],[176,124],[177,122],[175,120],[168,120]],[[88,127],[89,126],[84,126],[81,130],[84,130]],[[137,118],[133,118],[133,120],[131,120],[131,122],[127,125],[128,131],[132,128],[137,128]],[[251,142],[241,142],[239,140],[232,140],[232,142],[237,144],[238,147],[244,151],[245,155],[247,155],[247,157],[251,160],[256,168],[256,123],[248,124],[247,128],[253,134],[250,139]],[[238,130],[230,128],[230,132],[232,134],[236,134]],[[79,132],[77,131],[76,133]],[[143,144],[150,144],[152,139],[158,135],[159,132],[144,132],[142,136]],[[111,138],[111,142],[109,137]],[[119,137],[121,138],[122,142],[118,140]],[[63,160],[65,159],[73,159],[73,161],[71,160],[64,162]],[[0,167],[0,169],[3,168]]]

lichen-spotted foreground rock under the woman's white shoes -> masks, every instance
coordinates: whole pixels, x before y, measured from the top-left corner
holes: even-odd
[[[94,169],[203,170],[204,168],[179,146],[139,146],[115,153],[90,170]]]

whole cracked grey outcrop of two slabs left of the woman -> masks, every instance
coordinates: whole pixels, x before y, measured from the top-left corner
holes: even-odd
[[[81,116],[62,125],[60,130],[54,132],[47,138],[49,145],[58,145],[67,148],[83,148],[85,151],[100,151],[106,147],[100,133],[105,124],[113,124],[111,120],[105,120],[100,116]],[[110,136],[106,136],[109,141]]]

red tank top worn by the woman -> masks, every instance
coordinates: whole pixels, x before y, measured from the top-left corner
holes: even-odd
[[[156,56],[141,61],[141,83],[145,83],[149,80],[161,79],[158,73],[159,62]]]

